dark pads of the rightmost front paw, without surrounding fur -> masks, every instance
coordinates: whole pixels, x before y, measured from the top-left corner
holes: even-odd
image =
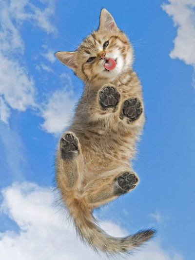
[[[124,101],[123,107],[122,107],[122,113],[121,113],[121,119],[123,117],[127,117],[131,122],[135,121],[139,118],[141,115],[143,109],[141,107],[141,102],[139,100],[130,99]]]

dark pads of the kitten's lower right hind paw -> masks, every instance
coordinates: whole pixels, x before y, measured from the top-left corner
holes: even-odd
[[[136,187],[138,182],[137,176],[133,173],[125,172],[116,178],[118,187],[116,190],[117,195],[124,194],[129,190]]]

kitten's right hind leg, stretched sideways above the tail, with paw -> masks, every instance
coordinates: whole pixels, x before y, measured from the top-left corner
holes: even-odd
[[[99,207],[132,191],[138,183],[136,173],[129,170],[103,179],[99,177],[98,180],[93,180],[85,186],[82,197],[86,203]]]

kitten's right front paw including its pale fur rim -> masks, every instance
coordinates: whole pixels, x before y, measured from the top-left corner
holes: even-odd
[[[141,117],[142,113],[143,105],[141,100],[130,98],[122,103],[119,117],[127,123],[133,123]]]

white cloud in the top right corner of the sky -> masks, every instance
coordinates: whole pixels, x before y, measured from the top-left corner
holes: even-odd
[[[172,59],[183,60],[195,68],[195,0],[168,0],[162,9],[172,17],[177,26]]]

